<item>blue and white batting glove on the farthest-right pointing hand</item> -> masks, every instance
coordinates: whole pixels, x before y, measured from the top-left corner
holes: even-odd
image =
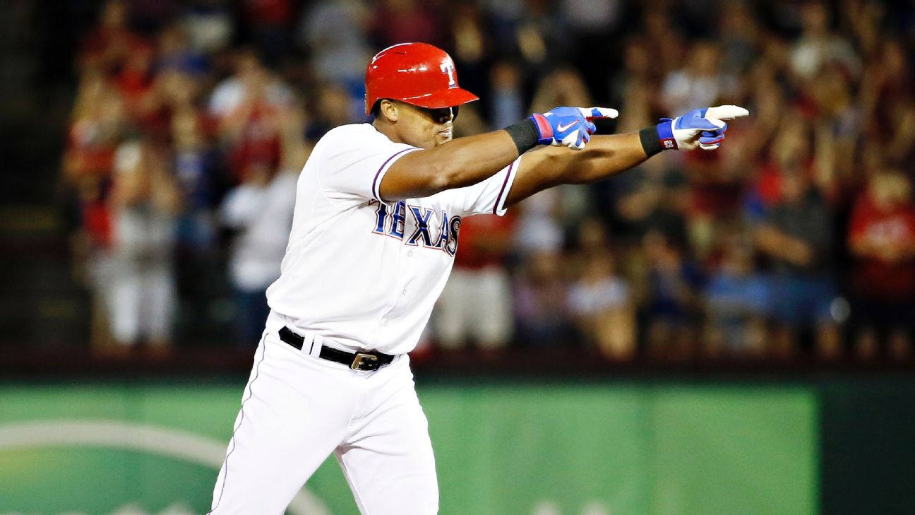
[[[749,115],[739,105],[718,105],[694,109],[676,118],[662,118],[658,125],[658,138],[665,150],[714,150],[721,145],[727,131],[725,120]]]

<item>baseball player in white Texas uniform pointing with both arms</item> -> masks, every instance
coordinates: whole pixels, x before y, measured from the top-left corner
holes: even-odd
[[[438,511],[427,422],[407,353],[458,249],[461,220],[505,214],[560,183],[606,179],[663,149],[717,148],[747,111],[700,109],[639,132],[592,136],[605,108],[558,107],[452,140],[458,86],[447,53],[378,53],[371,124],[322,137],[296,186],[271,313],[254,355],[210,513],[278,515],[335,455],[363,514]]]

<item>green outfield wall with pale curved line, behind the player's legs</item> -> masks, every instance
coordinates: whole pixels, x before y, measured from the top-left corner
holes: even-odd
[[[0,514],[205,513],[242,382],[0,386]],[[813,515],[805,388],[419,386],[442,514]],[[332,460],[292,515],[357,514]]]

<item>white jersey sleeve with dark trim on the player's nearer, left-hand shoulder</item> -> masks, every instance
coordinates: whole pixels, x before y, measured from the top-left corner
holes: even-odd
[[[369,125],[337,127],[319,143],[318,179],[332,200],[381,201],[379,188],[394,162],[419,148],[394,143]]]

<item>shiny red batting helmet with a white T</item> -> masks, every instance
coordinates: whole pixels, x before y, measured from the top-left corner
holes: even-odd
[[[365,69],[365,114],[382,98],[437,109],[479,96],[458,87],[455,62],[443,49],[401,43],[378,52]]]

